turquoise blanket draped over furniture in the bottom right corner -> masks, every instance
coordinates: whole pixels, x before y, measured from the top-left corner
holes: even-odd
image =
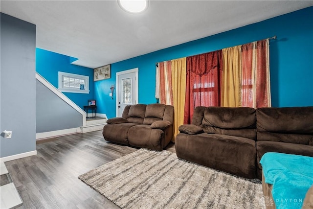
[[[273,185],[276,209],[301,209],[313,185],[313,157],[268,152],[260,163],[265,182]]]

